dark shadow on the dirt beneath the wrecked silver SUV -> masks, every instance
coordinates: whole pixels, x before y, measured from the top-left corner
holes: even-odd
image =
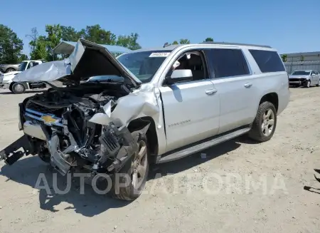
[[[240,147],[243,138],[237,138],[235,140],[230,140],[228,142],[222,143],[209,150],[204,150],[206,153],[206,159],[201,158],[199,153],[185,157],[181,160],[164,163],[161,165],[154,165],[157,167],[156,173],[166,175],[168,173],[176,174],[182,172],[183,170],[188,170],[191,167],[200,165],[203,162],[212,160],[220,155],[225,155],[227,152],[236,150]],[[247,141],[247,140],[245,140]],[[247,141],[250,142],[250,141]],[[102,212],[107,211],[110,208],[124,207],[130,202],[122,200],[114,200],[106,195],[97,194],[90,185],[85,185],[84,193],[80,192],[80,178],[73,179],[73,182],[67,182],[68,177],[63,177],[57,174],[55,171],[50,169],[50,166],[43,162],[38,156],[35,157],[25,157],[18,160],[14,165],[4,165],[1,168],[0,175],[7,177],[6,182],[18,182],[23,185],[28,185],[31,187],[36,187],[39,181],[39,175],[45,177],[45,180],[41,180],[40,185],[44,187],[44,182],[48,182],[50,190],[52,190],[53,195],[48,195],[48,190],[44,188],[38,190],[39,192],[39,203],[41,209],[46,209],[51,212],[61,211],[61,209],[55,209],[61,202],[68,202],[73,205],[73,207],[68,207],[67,209],[75,209],[75,212],[82,214],[87,217],[95,216]],[[54,179],[57,177],[57,179]],[[154,179],[155,173],[150,171],[149,180]],[[55,190],[58,187],[59,190],[65,190],[67,184],[71,183],[70,191],[63,195],[56,194]],[[39,184],[39,183],[38,183]],[[39,187],[39,186],[38,186]]]

